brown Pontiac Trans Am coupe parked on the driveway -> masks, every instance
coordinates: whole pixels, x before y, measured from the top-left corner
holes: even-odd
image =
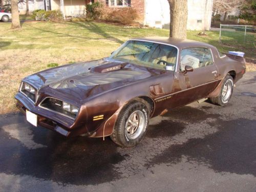
[[[225,105],[245,73],[245,59],[208,44],[135,38],[110,57],[60,66],[23,79],[17,107],[34,126],[66,137],[106,137],[138,144],[150,118],[209,99]]]

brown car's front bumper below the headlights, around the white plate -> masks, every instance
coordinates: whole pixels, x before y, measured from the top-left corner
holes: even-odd
[[[35,106],[34,103],[20,92],[16,94],[15,99],[17,100],[17,108],[24,115],[26,115],[26,110],[37,115],[37,124],[40,126],[46,127],[66,137],[88,133],[85,125],[77,126],[71,118]]]

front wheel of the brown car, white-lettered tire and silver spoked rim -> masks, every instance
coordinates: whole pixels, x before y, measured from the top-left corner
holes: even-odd
[[[129,121],[135,117],[136,125]],[[112,141],[123,147],[137,145],[145,136],[149,122],[149,112],[147,106],[139,101],[127,103],[120,111],[114,126],[113,134],[110,136]],[[131,125],[132,124],[132,125]],[[135,122],[136,124],[136,122]],[[130,127],[130,129],[129,129]],[[134,128],[132,128],[134,127]],[[131,131],[136,130],[136,131]]]

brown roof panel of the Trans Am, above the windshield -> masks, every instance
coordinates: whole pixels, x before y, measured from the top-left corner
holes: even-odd
[[[145,40],[145,41],[153,41],[158,42],[160,44],[167,44],[170,46],[176,46],[179,49],[189,48],[189,47],[207,47],[214,48],[205,42],[200,42],[196,40],[189,39],[179,39],[179,38],[171,38],[171,37],[144,37],[144,38],[133,38],[131,40]]]

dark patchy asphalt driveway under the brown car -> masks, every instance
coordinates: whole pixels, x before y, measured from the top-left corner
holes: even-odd
[[[2,115],[0,191],[256,191],[256,72],[236,86],[227,106],[195,102],[152,119],[129,149]]]

